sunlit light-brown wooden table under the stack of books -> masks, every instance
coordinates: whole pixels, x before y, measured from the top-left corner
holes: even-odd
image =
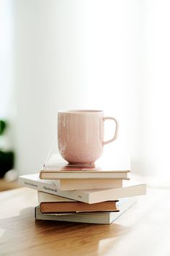
[[[0,192],[0,255],[170,255],[170,190],[148,189],[111,225],[35,221],[37,191]]]

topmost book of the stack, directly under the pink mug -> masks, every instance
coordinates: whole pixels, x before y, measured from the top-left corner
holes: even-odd
[[[40,179],[130,179],[130,163],[109,161],[94,166],[73,166],[52,155],[40,171]]]

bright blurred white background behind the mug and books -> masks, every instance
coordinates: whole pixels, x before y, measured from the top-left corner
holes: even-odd
[[[112,157],[128,155],[133,173],[170,186],[169,8],[168,0],[0,0],[1,178],[40,171],[58,110],[94,108],[120,121]]]

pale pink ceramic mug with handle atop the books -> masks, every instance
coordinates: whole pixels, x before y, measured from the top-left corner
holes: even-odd
[[[104,121],[112,119],[116,127],[111,140],[104,142]],[[118,123],[104,117],[99,110],[70,110],[58,112],[58,149],[69,163],[91,164],[101,155],[103,146],[117,139]]]

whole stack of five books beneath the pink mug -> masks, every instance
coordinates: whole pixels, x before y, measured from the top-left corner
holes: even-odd
[[[130,180],[130,169],[73,166],[55,156],[40,174],[19,176],[19,184],[37,189],[35,218],[109,224],[146,194],[146,184]]]

